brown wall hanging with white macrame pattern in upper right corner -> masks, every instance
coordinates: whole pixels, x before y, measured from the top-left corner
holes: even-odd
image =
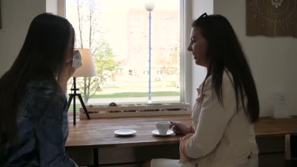
[[[297,0],[246,0],[246,33],[297,38]]]

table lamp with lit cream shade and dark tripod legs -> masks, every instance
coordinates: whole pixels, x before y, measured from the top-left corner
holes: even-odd
[[[71,104],[71,101],[73,99],[73,125],[76,125],[76,114],[75,114],[75,97],[77,96],[78,99],[80,100],[86,117],[88,119],[90,119],[89,113],[85,107],[85,103],[83,101],[82,95],[81,93],[77,93],[77,91],[79,90],[78,88],[76,88],[76,77],[94,77],[97,76],[96,75],[96,71],[95,71],[95,66],[94,66],[94,62],[93,62],[93,58],[91,55],[91,51],[90,49],[81,49],[81,48],[75,48],[74,50],[79,50],[82,54],[82,59],[83,59],[83,65],[81,67],[79,67],[78,69],[75,70],[75,72],[72,74],[73,77],[73,89],[71,88],[70,90],[73,91],[73,93],[69,94],[69,99],[68,99],[68,109],[69,106]]]

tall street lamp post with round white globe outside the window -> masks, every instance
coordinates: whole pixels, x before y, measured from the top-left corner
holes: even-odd
[[[150,62],[151,62],[151,11],[155,8],[155,3],[152,0],[146,0],[145,8],[148,11],[148,104],[151,104],[150,92]]]

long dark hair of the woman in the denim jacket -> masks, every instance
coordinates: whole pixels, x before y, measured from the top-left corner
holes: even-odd
[[[66,19],[43,13],[31,22],[27,36],[11,68],[0,78],[0,155],[5,143],[15,142],[18,104],[23,100],[26,84],[33,79],[56,82],[71,58],[74,29]]]

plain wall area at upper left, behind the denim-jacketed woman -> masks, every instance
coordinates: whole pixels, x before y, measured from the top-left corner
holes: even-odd
[[[33,18],[45,12],[45,0],[1,0],[0,76],[20,52]]]

